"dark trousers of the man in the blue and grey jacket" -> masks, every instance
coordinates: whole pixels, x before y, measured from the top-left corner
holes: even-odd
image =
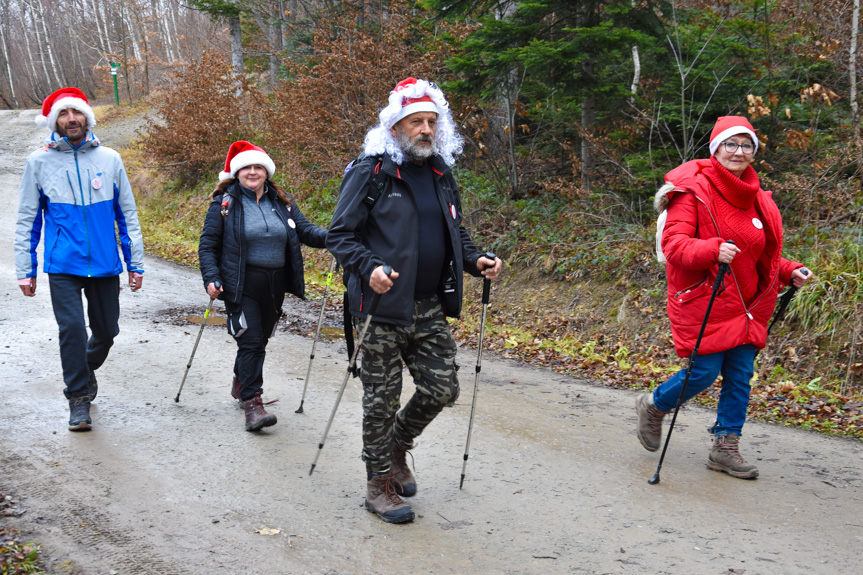
[[[60,362],[67,398],[87,394],[90,370],[97,370],[108,357],[114,338],[120,333],[120,276],[87,278],[48,274],[51,305],[60,328]],[[91,335],[87,337],[84,304]]]

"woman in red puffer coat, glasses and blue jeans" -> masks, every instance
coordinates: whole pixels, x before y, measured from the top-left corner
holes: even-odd
[[[710,159],[670,171],[654,201],[657,211],[667,209],[658,242],[660,259],[667,262],[668,317],[680,357],[692,354],[719,264],[730,266],[682,400],[722,375],[707,467],[741,479],[758,477],[738,451],[755,355],[767,342],[779,291],[792,283],[802,287],[812,277],[800,271],[803,264],[782,257],[782,217],[750,166],[757,151],[749,121],[723,116],[710,134]],[[676,407],[685,376],[682,369],[636,401],[638,439],[648,451],[659,448],[662,419]]]

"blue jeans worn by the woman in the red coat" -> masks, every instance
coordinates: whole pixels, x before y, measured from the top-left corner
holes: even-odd
[[[746,408],[749,406],[749,381],[755,371],[755,355],[758,350],[752,344],[699,355],[695,358],[686,393],[681,405],[708,387],[722,373],[722,391],[716,409],[716,435],[735,433],[740,435],[746,422]],[[660,411],[673,411],[677,407],[686,369],[681,369],[665,383],[653,390],[653,403]]]

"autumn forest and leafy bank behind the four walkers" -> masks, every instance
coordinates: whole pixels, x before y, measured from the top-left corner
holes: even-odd
[[[125,103],[153,109],[130,152],[148,248],[189,263],[232,141],[267,149],[327,225],[388,92],[438,82],[467,141],[467,226],[509,266],[490,347],[611,384],[679,365],[653,194],[709,155],[717,116],[745,115],[786,255],[818,277],[759,356],[753,412],[863,435],[859,0],[0,0],[0,13],[7,107],[66,84],[111,98],[106,66],[121,63]],[[471,302],[455,325],[466,340]]]

